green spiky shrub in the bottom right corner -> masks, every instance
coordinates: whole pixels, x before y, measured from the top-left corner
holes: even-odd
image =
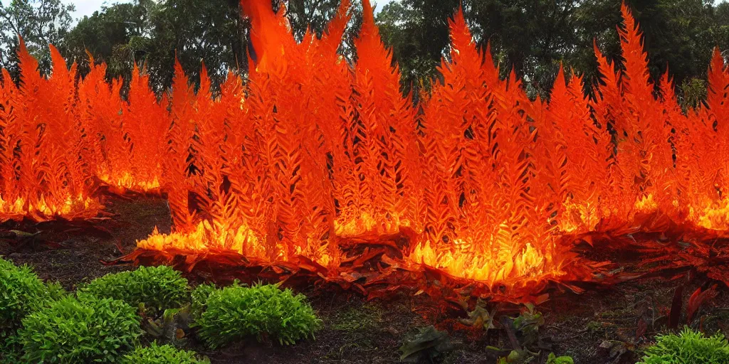
[[[724,335],[717,333],[706,337],[703,333],[684,328],[679,336],[657,336],[655,345],[646,349],[643,361],[639,364],[692,363],[729,363],[729,343]]]

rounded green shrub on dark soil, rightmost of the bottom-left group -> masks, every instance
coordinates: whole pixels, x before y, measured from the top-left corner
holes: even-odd
[[[194,325],[212,349],[248,336],[294,344],[313,337],[321,325],[305,299],[276,285],[233,285],[210,294],[205,312]]]

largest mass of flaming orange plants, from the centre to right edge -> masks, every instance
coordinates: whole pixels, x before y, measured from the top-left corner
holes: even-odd
[[[529,100],[513,72],[499,78],[459,12],[443,82],[413,106],[368,1],[356,64],[336,54],[348,6],[321,39],[296,43],[283,12],[243,1],[258,58],[249,82],[229,78],[218,98],[204,69],[195,94],[177,66],[176,232],[155,232],[141,248],[305,256],[336,268],[343,238],[410,229],[420,240],[404,248],[405,265],[524,286],[566,274],[566,236],[666,229],[658,215],[726,229],[726,159],[709,158],[704,143],[725,143],[729,78],[718,53],[708,107],[682,113],[668,75],[651,81],[623,5],[623,66],[595,46],[595,97],[560,68],[549,102]]]

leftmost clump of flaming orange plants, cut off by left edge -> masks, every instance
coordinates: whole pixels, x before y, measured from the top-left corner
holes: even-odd
[[[0,93],[0,221],[29,217],[93,217],[93,158],[79,119],[76,66],[50,46],[52,75],[20,39],[19,85],[2,71]]]

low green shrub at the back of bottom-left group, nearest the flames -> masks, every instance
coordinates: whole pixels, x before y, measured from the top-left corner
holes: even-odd
[[[157,313],[184,305],[189,298],[187,280],[168,266],[140,266],[129,272],[106,274],[79,290],[99,298],[114,298]]]

